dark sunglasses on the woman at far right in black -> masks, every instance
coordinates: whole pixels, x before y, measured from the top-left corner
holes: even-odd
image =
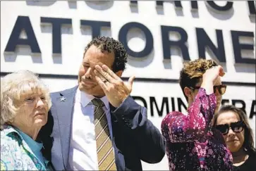
[[[242,132],[245,127],[245,123],[243,121],[232,122],[230,126],[228,124],[225,125],[216,125],[215,128],[218,129],[221,134],[228,134],[229,128],[233,130],[233,132],[239,133]]]

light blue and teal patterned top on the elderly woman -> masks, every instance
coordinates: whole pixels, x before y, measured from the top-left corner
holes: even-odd
[[[1,168],[0,170],[51,170],[48,161],[35,153],[32,141],[11,126],[1,130]],[[30,146],[28,145],[30,144]],[[34,145],[37,143],[34,141]],[[40,144],[37,144],[37,151]],[[42,145],[41,145],[42,148]]]

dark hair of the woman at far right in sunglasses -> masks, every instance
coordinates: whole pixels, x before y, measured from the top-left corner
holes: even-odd
[[[247,150],[247,153],[256,155],[256,149],[254,147],[252,129],[250,128],[248,118],[243,110],[241,110],[240,108],[236,108],[236,106],[232,106],[232,105],[222,106],[220,108],[219,112],[214,115],[214,118],[212,120],[212,125],[216,126],[217,119],[218,119],[219,115],[221,113],[228,112],[228,111],[236,113],[236,115],[238,115],[240,120],[245,123],[245,141],[243,143],[243,148],[245,148]]]

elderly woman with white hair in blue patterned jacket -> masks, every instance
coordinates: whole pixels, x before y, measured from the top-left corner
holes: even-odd
[[[47,123],[49,89],[28,70],[1,78],[1,170],[52,170],[37,134]]]

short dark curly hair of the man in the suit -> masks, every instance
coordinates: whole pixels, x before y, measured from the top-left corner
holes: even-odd
[[[123,47],[121,42],[111,38],[111,37],[95,37],[92,41],[87,44],[85,47],[85,52],[83,56],[85,56],[86,51],[90,48],[90,46],[97,46],[102,52],[107,51],[111,53],[114,52],[114,63],[112,66],[112,70],[117,72],[118,70],[125,70],[127,63],[127,52]]]

